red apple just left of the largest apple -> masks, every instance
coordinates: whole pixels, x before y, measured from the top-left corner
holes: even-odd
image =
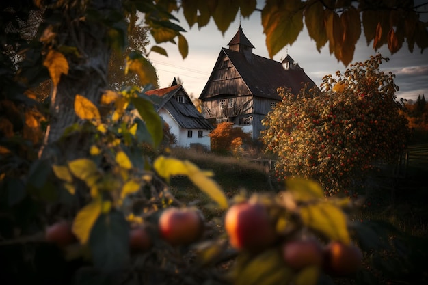
[[[168,208],[159,217],[159,232],[171,245],[187,245],[200,239],[203,217],[190,208]]]

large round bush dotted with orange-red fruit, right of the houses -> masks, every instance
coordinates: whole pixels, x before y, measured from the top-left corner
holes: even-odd
[[[294,96],[280,90],[282,102],[263,120],[267,151],[278,155],[280,179],[312,178],[327,193],[349,191],[375,161],[394,161],[406,146],[408,129],[394,74],[379,70],[384,58],[352,64],[343,74],[324,77],[322,90]]]

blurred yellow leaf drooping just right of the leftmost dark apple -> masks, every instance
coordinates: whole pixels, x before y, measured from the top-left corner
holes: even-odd
[[[85,244],[90,236],[92,227],[101,214],[103,201],[101,198],[92,200],[90,204],[80,209],[72,225],[72,232],[77,236],[81,244]]]

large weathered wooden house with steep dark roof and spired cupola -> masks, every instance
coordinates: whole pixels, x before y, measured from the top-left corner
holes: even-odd
[[[233,122],[258,139],[261,121],[281,100],[279,87],[297,94],[303,83],[316,85],[290,55],[276,62],[252,53],[254,46],[241,25],[228,46],[220,51],[199,96],[202,114],[210,122]]]

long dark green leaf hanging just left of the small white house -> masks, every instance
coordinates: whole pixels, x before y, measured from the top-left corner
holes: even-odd
[[[155,110],[155,106],[150,100],[142,97],[133,97],[131,102],[137,109],[139,116],[146,122],[146,128],[152,135],[153,146],[159,146],[163,138],[163,124],[161,117]]]

